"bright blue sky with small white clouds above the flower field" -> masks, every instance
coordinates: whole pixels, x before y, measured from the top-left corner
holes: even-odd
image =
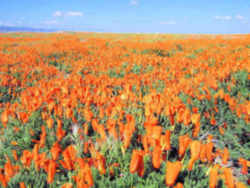
[[[3,0],[0,25],[97,32],[250,33],[250,0]]]

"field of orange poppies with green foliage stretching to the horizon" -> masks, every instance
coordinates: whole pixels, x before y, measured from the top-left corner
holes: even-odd
[[[0,34],[0,185],[249,187],[249,72],[249,34]]]

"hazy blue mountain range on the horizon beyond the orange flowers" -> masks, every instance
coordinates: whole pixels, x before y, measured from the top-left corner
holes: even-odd
[[[15,26],[1,26],[0,33],[8,32],[56,32],[56,29],[45,29],[45,28],[32,28],[32,27],[15,27]]]

